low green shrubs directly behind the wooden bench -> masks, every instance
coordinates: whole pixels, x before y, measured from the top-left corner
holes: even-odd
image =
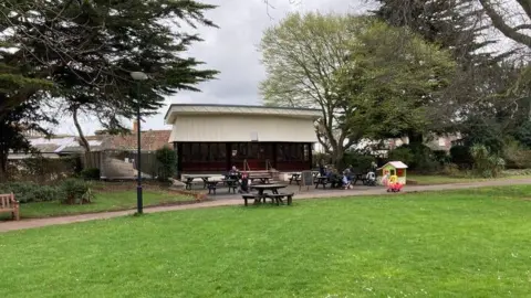
[[[54,201],[62,196],[61,190],[51,185],[39,185],[33,182],[0,184],[0,193],[11,192],[20,203]]]

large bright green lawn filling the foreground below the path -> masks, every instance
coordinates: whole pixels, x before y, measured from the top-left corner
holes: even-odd
[[[531,187],[0,234],[2,297],[530,297]],[[329,296],[330,295],[330,296]]]

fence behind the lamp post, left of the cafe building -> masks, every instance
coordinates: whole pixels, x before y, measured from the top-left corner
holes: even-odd
[[[134,179],[136,177],[136,152],[133,151],[93,151],[82,157],[83,169],[100,169],[102,179]],[[155,152],[143,152],[140,155],[142,174],[146,179],[155,179],[160,172]]]

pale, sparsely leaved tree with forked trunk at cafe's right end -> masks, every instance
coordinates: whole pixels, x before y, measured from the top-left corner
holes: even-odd
[[[293,13],[269,28],[260,43],[268,74],[260,86],[264,103],[320,108],[317,139],[334,163],[358,140],[356,127],[342,117],[351,110],[337,96],[335,72],[347,63],[353,28],[363,23],[348,15]]]

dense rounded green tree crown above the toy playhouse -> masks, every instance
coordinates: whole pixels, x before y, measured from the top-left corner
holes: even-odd
[[[429,110],[445,103],[455,74],[451,55],[407,29],[374,21],[356,34],[348,64],[339,72],[343,98],[355,113],[347,123],[384,139],[423,135],[439,124]]]

